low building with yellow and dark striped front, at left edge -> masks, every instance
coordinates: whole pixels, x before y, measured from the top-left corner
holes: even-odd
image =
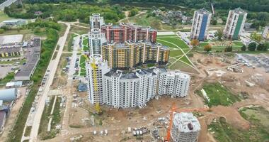
[[[19,47],[4,47],[0,48],[0,58],[11,58],[23,55],[21,46]]]

